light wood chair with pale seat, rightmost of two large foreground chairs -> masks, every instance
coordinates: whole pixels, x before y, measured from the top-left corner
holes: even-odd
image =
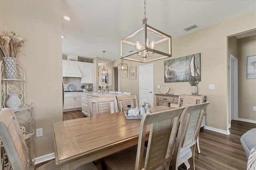
[[[198,138],[204,111],[209,103],[187,106],[180,115],[180,126],[174,153],[172,154],[172,170],[178,170],[178,166],[182,163],[185,163],[187,169],[195,169],[194,154],[196,139]],[[190,160],[190,164],[188,163],[188,159]]]

